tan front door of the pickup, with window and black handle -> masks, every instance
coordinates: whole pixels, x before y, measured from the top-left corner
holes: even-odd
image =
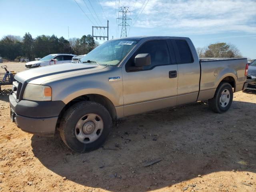
[[[134,70],[134,58],[142,53],[150,54],[151,65]],[[144,42],[122,66],[124,116],[176,105],[177,70],[166,40]]]

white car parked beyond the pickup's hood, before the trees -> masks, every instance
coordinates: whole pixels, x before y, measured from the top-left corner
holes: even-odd
[[[50,54],[48,56],[43,57],[38,61],[30,61],[25,64],[26,68],[36,68],[54,64],[62,64],[62,63],[70,63],[72,57],[76,55],[73,54]]]

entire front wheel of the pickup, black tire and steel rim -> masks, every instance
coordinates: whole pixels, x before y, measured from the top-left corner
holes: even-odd
[[[102,146],[112,127],[108,110],[99,103],[82,101],[72,105],[60,121],[60,137],[76,152]]]

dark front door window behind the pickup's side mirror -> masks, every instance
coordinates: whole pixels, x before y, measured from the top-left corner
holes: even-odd
[[[166,40],[152,40],[144,43],[130,60],[126,63],[126,71],[130,71],[129,67],[134,66],[134,58],[138,54],[149,53],[151,58],[151,65],[144,66],[142,70],[150,70],[155,66],[170,64],[170,54]]]

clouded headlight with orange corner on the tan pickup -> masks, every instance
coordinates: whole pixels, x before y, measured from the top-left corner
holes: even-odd
[[[27,84],[23,98],[32,101],[52,100],[52,88],[44,85]]]

